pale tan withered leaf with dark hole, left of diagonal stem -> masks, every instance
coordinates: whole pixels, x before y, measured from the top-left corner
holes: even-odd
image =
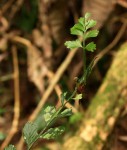
[[[28,76],[29,79],[37,86],[39,91],[44,91],[44,77],[47,74],[41,52],[34,46],[28,47]]]

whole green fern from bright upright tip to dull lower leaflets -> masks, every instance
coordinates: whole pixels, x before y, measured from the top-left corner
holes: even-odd
[[[45,121],[45,127],[39,131],[36,121],[28,122],[23,128],[23,137],[27,144],[27,150],[30,150],[33,144],[38,139],[55,139],[61,135],[65,128],[59,126],[56,128],[51,128],[51,125],[62,117],[67,117],[72,115],[71,108],[64,109],[66,103],[70,100],[80,100],[82,99],[82,92],[78,92],[78,86],[85,85],[88,76],[93,68],[94,60],[86,66],[86,51],[94,52],[96,49],[96,44],[94,42],[87,43],[87,39],[96,37],[98,35],[98,30],[91,30],[92,27],[96,25],[96,21],[89,19],[90,13],[86,13],[84,17],[78,20],[78,23],[71,28],[71,34],[80,36],[74,41],[66,41],[65,46],[69,49],[82,48],[84,53],[84,71],[80,79],[77,79],[77,84],[74,91],[68,95],[67,92],[61,94],[61,107],[56,110],[54,106],[47,106],[44,109],[43,118]],[[9,145],[5,150],[16,150],[14,145]]]

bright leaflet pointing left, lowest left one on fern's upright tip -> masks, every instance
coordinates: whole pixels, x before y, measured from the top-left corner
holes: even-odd
[[[82,44],[80,42],[80,40],[75,40],[75,41],[67,41],[65,42],[65,46],[69,49],[73,49],[73,48],[79,48],[82,47]]]

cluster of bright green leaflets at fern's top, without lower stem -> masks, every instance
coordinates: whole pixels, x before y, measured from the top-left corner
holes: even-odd
[[[79,39],[76,39],[75,41],[66,41],[65,46],[69,49],[73,48],[83,48],[83,50],[94,52],[95,46],[93,42],[89,45],[87,48],[87,45],[85,46],[83,43],[86,43],[86,40],[92,37],[97,37],[99,31],[98,30],[89,30],[90,28],[94,27],[96,25],[96,21],[89,19],[90,13],[86,13],[84,17],[81,17],[78,20],[78,23],[76,23],[71,29],[72,35],[77,35],[82,37],[82,42]]]

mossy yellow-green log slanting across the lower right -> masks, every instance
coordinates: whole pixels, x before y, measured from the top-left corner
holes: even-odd
[[[77,134],[63,150],[101,150],[127,102],[127,43],[120,47]]]

